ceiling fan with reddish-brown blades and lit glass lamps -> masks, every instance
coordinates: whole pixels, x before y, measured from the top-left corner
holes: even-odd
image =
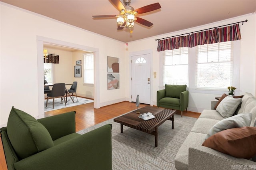
[[[122,30],[123,28],[129,28],[130,33],[132,33],[132,28],[134,26],[134,21],[138,22],[144,26],[150,27],[153,25],[153,23],[144,20],[139,17],[135,17],[137,14],[143,14],[146,12],[154,11],[157,9],[160,9],[160,4],[154,3],[147,6],[143,6],[141,8],[138,8],[134,10],[132,6],[130,6],[131,0],[123,0],[124,5],[120,0],[110,0],[116,8],[119,10],[119,15],[98,15],[98,16],[92,16],[93,18],[117,18],[117,24],[118,24],[118,30]]]

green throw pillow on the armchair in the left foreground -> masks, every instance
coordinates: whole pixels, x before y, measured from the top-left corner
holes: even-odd
[[[48,130],[34,117],[12,107],[7,134],[20,159],[54,146]]]

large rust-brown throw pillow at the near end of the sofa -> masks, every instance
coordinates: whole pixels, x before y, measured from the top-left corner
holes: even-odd
[[[231,128],[218,132],[202,146],[218,150],[236,158],[250,159],[256,155],[256,127]]]

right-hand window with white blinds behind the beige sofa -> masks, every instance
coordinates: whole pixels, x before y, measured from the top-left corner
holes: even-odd
[[[196,88],[226,89],[233,85],[232,42],[196,47]]]

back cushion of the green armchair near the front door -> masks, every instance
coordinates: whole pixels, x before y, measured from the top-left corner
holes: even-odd
[[[180,93],[186,91],[187,85],[165,85],[165,97],[180,99]]]

